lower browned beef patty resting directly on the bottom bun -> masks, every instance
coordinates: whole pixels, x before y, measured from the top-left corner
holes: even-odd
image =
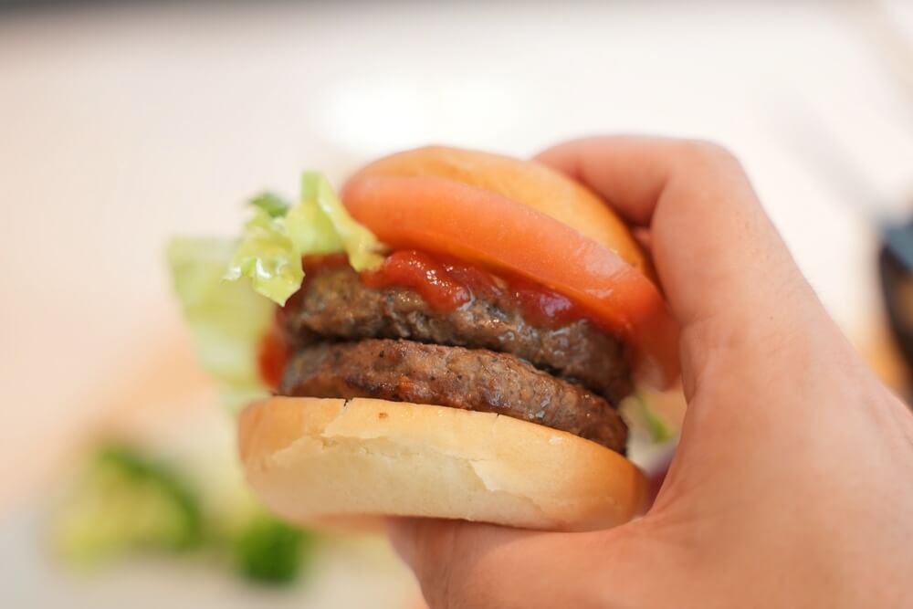
[[[570,432],[624,454],[627,427],[602,397],[507,353],[364,340],[299,348],[279,393],[374,397],[509,415]]]

